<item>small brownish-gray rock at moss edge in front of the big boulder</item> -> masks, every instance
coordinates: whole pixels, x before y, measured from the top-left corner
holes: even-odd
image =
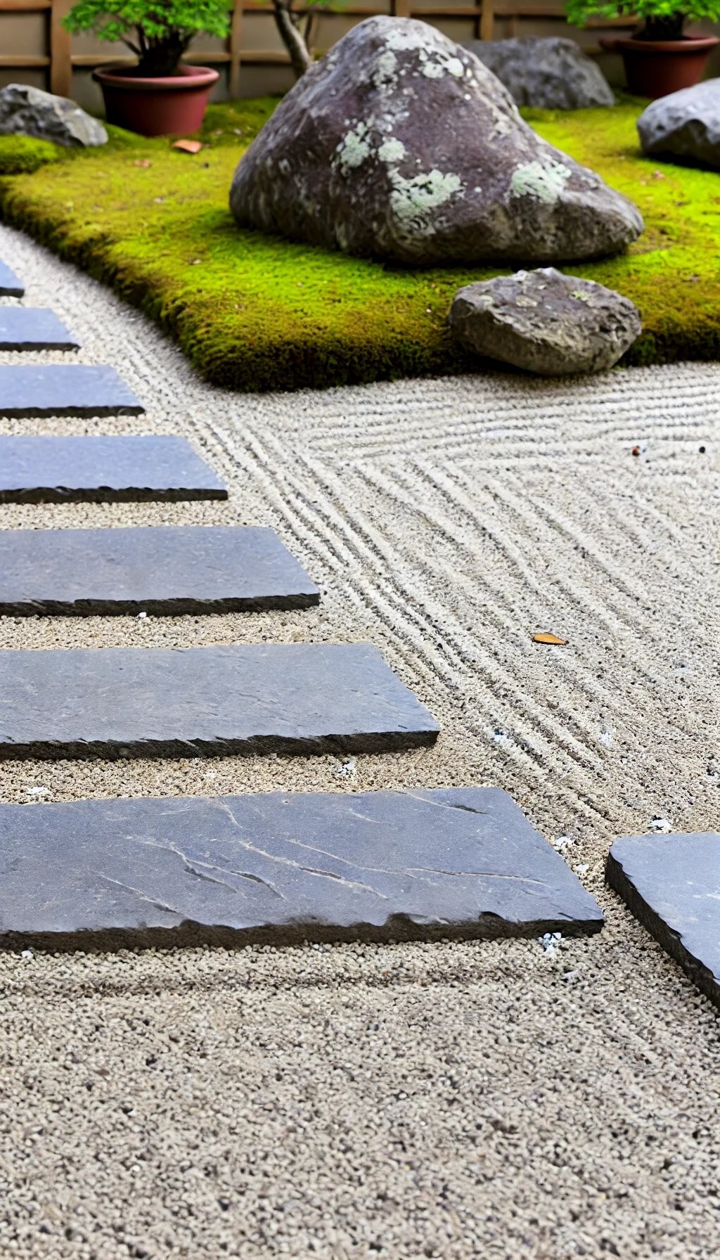
[[[542,377],[607,372],[642,331],[627,297],[555,267],[465,285],[450,328],[467,350]]]

